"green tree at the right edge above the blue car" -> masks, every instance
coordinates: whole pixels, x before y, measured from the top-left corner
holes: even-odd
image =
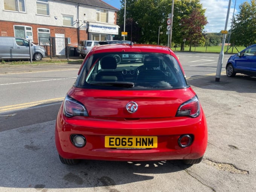
[[[230,43],[248,47],[256,43],[256,0],[239,5],[239,14],[233,20]]]

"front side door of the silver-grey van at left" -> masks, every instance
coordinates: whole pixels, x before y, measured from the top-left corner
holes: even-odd
[[[15,38],[15,49],[12,58],[30,58],[29,42],[21,38]]]

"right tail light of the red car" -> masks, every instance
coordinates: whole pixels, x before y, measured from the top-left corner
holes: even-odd
[[[200,114],[199,101],[197,96],[184,102],[178,108],[176,116],[198,117]]]

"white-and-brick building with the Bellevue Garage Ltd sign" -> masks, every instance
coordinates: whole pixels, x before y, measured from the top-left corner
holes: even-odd
[[[117,8],[102,0],[0,0],[0,36],[21,37],[48,45],[49,37],[113,40]]]

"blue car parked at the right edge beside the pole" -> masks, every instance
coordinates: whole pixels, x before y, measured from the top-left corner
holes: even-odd
[[[236,73],[256,76],[256,44],[230,56],[226,65],[226,74],[228,77],[234,77]]]

